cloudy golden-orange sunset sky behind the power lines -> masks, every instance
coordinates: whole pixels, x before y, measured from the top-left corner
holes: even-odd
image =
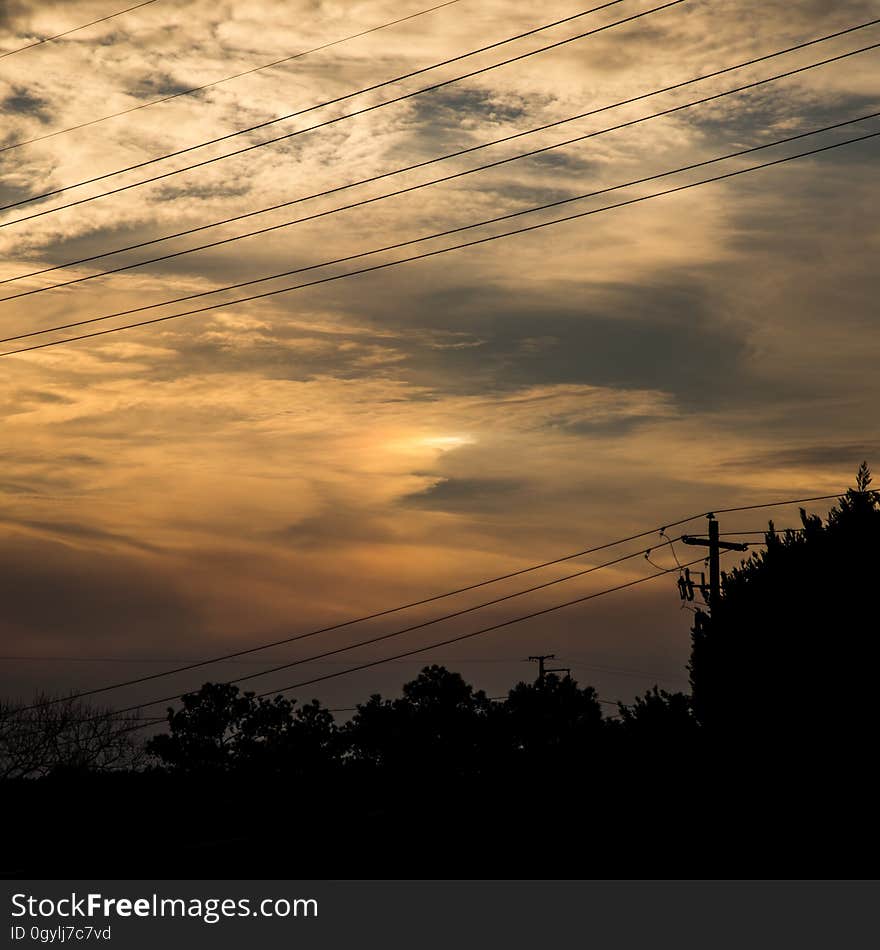
[[[0,204],[347,96],[572,16],[557,0],[158,0],[0,6]],[[75,207],[658,6],[587,16],[257,132],[0,212],[13,336],[408,241],[878,111],[878,51],[453,181],[224,246],[50,288],[331,211],[880,43],[880,25],[636,104],[189,237],[14,280],[290,202],[864,23],[860,0],[686,0],[244,155]],[[866,119],[273,290],[598,209],[880,131]],[[41,138],[44,136],[49,136]],[[18,145],[25,140],[40,141]],[[247,648],[713,508],[824,495],[880,459],[877,139],[628,207],[199,315],[0,357],[0,692],[66,691]],[[14,147],[13,147],[14,146]],[[168,315],[165,306],[97,327]],[[65,334],[4,344],[57,340]],[[823,512],[827,504],[810,506]],[[797,525],[797,506],[722,531]],[[679,529],[681,530],[681,529]],[[697,519],[687,530],[704,530]],[[654,540],[661,541],[659,536]],[[107,702],[257,672],[562,577],[646,542],[211,667]],[[647,543],[653,543],[648,539]],[[662,567],[693,549],[661,548]],[[646,576],[641,556],[248,685],[268,690]],[[490,694],[556,653],[605,698],[686,685],[675,575],[407,661],[305,687],[350,706],[442,662]],[[29,658],[29,659],[24,659]]]

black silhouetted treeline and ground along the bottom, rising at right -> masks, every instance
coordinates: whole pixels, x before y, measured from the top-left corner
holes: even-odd
[[[8,767],[23,729],[11,710],[0,871],[865,876],[878,843],[869,484],[863,466],[826,520],[771,524],[724,576],[714,616],[695,615],[689,694],[655,688],[603,715],[568,676],[493,701],[429,666],[339,724],[316,701],[207,683],[146,749],[126,751],[120,730],[116,755],[92,745],[29,773]]]

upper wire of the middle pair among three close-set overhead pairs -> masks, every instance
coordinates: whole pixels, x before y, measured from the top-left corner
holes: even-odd
[[[734,64],[734,65],[732,65],[732,66],[725,66],[724,68],[714,70],[713,72],[703,73],[703,74],[701,74],[701,75],[699,75],[699,76],[694,76],[694,77],[692,77],[691,79],[686,79],[686,80],[683,80],[683,81],[681,81],[681,82],[673,83],[672,85],[663,86],[663,87],[660,87],[659,89],[654,89],[654,90],[651,90],[651,91],[649,91],[649,92],[641,93],[641,94],[639,94],[639,95],[637,95],[637,96],[632,96],[632,97],[630,97],[629,99],[618,100],[617,102],[613,102],[613,103],[610,103],[610,104],[608,104],[608,105],[600,106],[600,107],[598,107],[598,108],[596,108],[596,109],[591,109],[591,110],[588,111],[588,112],[581,112],[581,113],[579,113],[578,115],[570,116],[570,117],[565,118],[565,119],[558,119],[558,120],[556,120],[556,121],[554,121],[554,122],[548,122],[548,123],[546,123],[546,124],[544,124],[544,125],[537,126],[536,128],[533,128],[533,129],[526,129],[525,131],[522,131],[522,132],[514,132],[514,133],[512,133],[512,134],[510,134],[510,135],[505,135],[505,136],[503,136],[503,137],[501,137],[501,138],[493,139],[493,140],[491,140],[491,141],[489,141],[489,142],[482,142],[482,143],[480,143],[480,144],[478,144],[478,145],[471,145],[471,146],[468,146],[467,148],[462,148],[462,149],[459,149],[459,150],[454,151],[454,152],[449,152],[449,153],[447,153],[446,155],[440,155],[440,156],[435,157],[435,158],[430,158],[430,159],[426,159],[426,160],[423,160],[423,161],[420,161],[420,162],[415,162],[415,163],[412,164],[412,165],[406,165],[406,166],[404,166],[404,167],[402,167],[402,168],[393,169],[392,171],[389,171],[389,172],[383,172],[383,173],[381,173],[381,174],[379,174],[379,175],[373,175],[373,176],[371,176],[371,177],[369,177],[369,178],[362,178],[362,179],[360,179],[360,180],[358,180],[358,181],[348,182],[347,184],[338,185],[338,186],[336,186],[336,187],[334,187],[334,188],[329,188],[329,189],[327,189],[327,190],[325,190],[325,191],[314,192],[314,193],[312,193],[312,194],[310,194],[310,195],[304,195],[304,196],[302,196],[302,197],[300,197],[300,198],[294,198],[294,199],[292,199],[292,200],[290,200],[290,201],[284,201],[284,202],[280,202],[279,204],[269,205],[268,207],[260,208],[260,209],[255,210],[255,211],[248,211],[248,212],[245,212],[245,213],[243,213],[243,214],[233,215],[233,216],[228,217],[228,218],[223,218],[223,219],[221,219],[221,220],[219,220],[219,221],[213,221],[213,222],[211,222],[211,223],[209,223],[209,224],[203,224],[203,225],[199,225],[199,226],[197,226],[197,227],[187,228],[187,229],[182,230],[182,231],[176,231],[176,232],[174,232],[174,233],[172,233],[172,234],[166,234],[166,235],[164,235],[164,236],[162,236],[162,237],[152,238],[151,240],[148,240],[148,241],[140,241],[140,242],[137,243],[137,244],[128,244],[128,245],[125,245],[125,246],[123,246],[123,247],[117,247],[117,248],[114,248],[113,250],[105,251],[105,252],[103,252],[103,253],[101,253],[101,254],[93,254],[93,255],[91,255],[90,257],[79,258],[78,260],[75,260],[75,261],[67,261],[67,262],[64,263],[64,264],[55,264],[55,265],[53,265],[53,266],[51,266],[51,267],[44,267],[44,268],[42,268],[42,269],[40,269],[40,270],[31,271],[31,272],[26,273],[26,274],[20,274],[20,275],[18,275],[17,277],[7,277],[7,278],[4,278],[4,279],[0,280],[0,284],[7,284],[7,283],[11,283],[11,282],[13,282],[13,281],[25,280],[25,279],[30,278],[30,277],[38,277],[38,276],[41,275],[41,274],[47,274],[47,273],[50,273],[51,271],[62,270],[62,269],[68,268],[68,267],[76,267],[76,266],[79,265],[79,264],[87,264],[87,263],[89,263],[89,262],[91,262],[91,261],[100,260],[102,257],[109,257],[109,256],[114,255],[114,254],[121,254],[121,253],[123,253],[124,251],[134,251],[134,250],[138,250],[139,248],[142,248],[142,247],[149,247],[149,246],[152,245],[152,244],[159,244],[159,243],[161,243],[162,241],[170,241],[170,240],[173,240],[174,238],[185,237],[185,236],[188,235],[188,234],[195,234],[195,233],[197,233],[197,232],[199,232],[199,231],[205,231],[205,230],[207,230],[207,229],[209,229],[209,228],[220,227],[221,225],[225,225],[225,224],[232,224],[232,223],[235,222],[235,221],[241,221],[241,220],[244,220],[245,218],[251,218],[251,217],[254,217],[254,216],[256,216],[256,215],[265,214],[265,213],[267,213],[267,212],[269,212],[269,211],[277,211],[277,210],[279,210],[279,209],[281,209],[281,208],[287,208],[287,207],[290,207],[291,205],[299,204],[299,203],[301,203],[301,202],[303,202],[303,201],[309,201],[309,200],[311,200],[311,199],[313,199],[313,198],[323,198],[323,197],[326,197],[326,196],[331,195],[331,194],[335,194],[335,193],[340,192],[340,191],[345,191],[345,190],[347,190],[347,189],[349,189],[349,188],[355,188],[355,187],[358,187],[358,186],[360,186],[360,185],[371,184],[371,183],[373,183],[373,182],[380,181],[380,180],[382,180],[382,179],[384,179],[384,178],[389,178],[389,177],[391,177],[391,176],[393,176],[393,175],[399,175],[399,174],[403,174],[403,173],[405,173],[405,172],[414,171],[414,170],[419,169],[419,168],[424,168],[424,167],[426,167],[426,166],[428,166],[428,165],[433,165],[433,164],[435,164],[435,163],[437,163],[437,162],[446,161],[447,159],[458,158],[458,157],[460,157],[460,156],[462,156],[462,155],[467,155],[467,154],[470,154],[471,152],[476,152],[476,151],[480,151],[480,150],[485,149],[485,148],[490,148],[490,147],[492,147],[492,146],[494,146],[494,145],[500,145],[500,144],[503,144],[503,143],[505,143],[505,142],[510,142],[510,141],[513,141],[514,139],[522,138],[523,136],[526,136],[526,135],[533,135],[533,134],[535,134],[535,133],[537,133],[537,132],[543,132],[543,131],[546,131],[547,129],[555,128],[555,127],[557,127],[557,126],[559,126],[559,125],[565,125],[565,124],[567,124],[567,123],[569,123],[569,122],[574,122],[574,121],[577,121],[577,120],[579,120],[579,119],[585,119],[585,118],[588,118],[588,117],[590,117],[590,116],[597,115],[597,114],[599,114],[599,113],[601,113],[601,112],[607,112],[607,111],[609,111],[609,110],[611,110],[611,109],[617,109],[617,108],[619,108],[619,107],[621,107],[621,106],[631,105],[631,104],[633,104],[633,103],[640,102],[640,101],[642,101],[642,100],[644,100],[644,99],[652,98],[652,97],[654,97],[654,96],[658,96],[658,95],[661,95],[661,94],[666,93],[666,92],[672,92],[672,91],[674,91],[674,90],[684,88],[685,86],[689,86],[689,85],[692,85],[692,84],[697,83],[697,82],[703,82],[703,81],[706,80],[706,79],[712,79],[712,78],[715,78],[715,77],[717,77],[717,76],[724,75],[725,73],[733,72],[733,71],[738,70],[738,69],[743,69],[743,68],[745,68],[745,67],[747,67],[747,66],[753,66],[753,65],[755,65],[756,63],[764,62],[764,61],[766,61],[766,60],[768,60],[768,59],[774,59],[774,58],[777,57],[777,56],[783,56],[783,55],[786,55],[786,54],[788,54],[788,53],[792,53],[792,52],[795,52],[795,51],[797,51],[797,50],[804,49],[804,48],[806,48],[806,47],[808,47],[808,46],[813,46],[813,45],[815,45],[815,44],[817,44],[817,43],[824,43],[824,42],[826,42],[826,41],[828,41],[828,40],[836,39],[836,38],[838,38],[838,37],[840,37],[840,36],[844,36],[845,34],[852,33],[852,32],[855,32],[855,31],[857,31],[857,30],[865,29],[866,27],[873,26],[873,25],[875,25],[875,24],[877,24],[877,23],[880,23],[880,19],[870,20],[870,21],[868,21],[867,23],[861,23],[861,24],[859,24],[859,25],[857,25],[857,26],[852,26],[852,27],[849,27],[849,28],[847,28],[847,29],[845,29],[845,30],[840,30],[840,31],[838,31],[838,32],[836,32],[836,33],[829,33],[829,34],[826,34],[825,36],[816,37],[815,39],[811,39],[811,40],[807,40],[807,41],[802,42],[802,43],[798,43],[798,44],[795,45],[795,46],[789,46],[789,47],[786,47],[785,49],[777,50],[776,52],[773,52],[773,53],[767,53],[767,54],[765,54],[765,55],[763,55],[763,56],[758,56],[758,57],[756,57],[756,58],[754,58],[754,59],[749,59],[749,60],[746,60],[746,61],[741,62],[741,63],[736,63],[736,64]],[[804,67],[802,67],[802,68],[800,68],[800,69],[790,70],[790,71],[785,72],[785,73],[780,73],[779,75],[774,76],[774,77],[772,77],[771,79],[759,80],[758,82],[756,82],[756,83],[754,83],[754,84],[749,83],[749,84],[746,84],[746,85],[744,85],[744,86],[740,86],[740,87],[738,87],[736,90],[731,90],[729,93],[726,93],[726,94],[729,95],[729,94],[731,94],[732,92],[737,92],[737,91],[745,90],[745,89],[751,88],[753,85],[761,85],[762,83],[764,83],[764,82],[770,82],[770,81],[772,81],[773,79],[780,79],[780,78],[783,78],[783,77],[786,77],[786,76],[794,75],[795,73],[803,72],[803,71],[805,71],[805,70],[807,70],[807,69],[813,69],[813,68],[815,68],[815,67],[817,67],[817,66],[822,66],[822,65],[825,65],[826,63],[834,62],[834,61],[837,60],[838,58],[845,58],[845,57],[847,57],[847,56],[856,55],[857,53],[866,52],[866,51],[868,51],[869,49],[873,49],[873,48],[874,48],[874,46],[862,47],[861,49],[854,50],[854,51],[851,51],[851,52],[849,52],[849,53],[844,53],[841,57],[832,57],[831,59],[823,60],[823,61],[820,62],[820,63],[813,63],[813,64],[810,64],[810,65],[808,65],[808,66],[804,66]],[[709,100],[708,100],[708,98],[707,98],[706,100],[698,100],[697,102],[692,103],[692,105],[696,105],[696,104],[698,104],[698,103],[702,103],[703,101],[709,101]],[[59,286],[60,286],[60,285],[59,285]]]

